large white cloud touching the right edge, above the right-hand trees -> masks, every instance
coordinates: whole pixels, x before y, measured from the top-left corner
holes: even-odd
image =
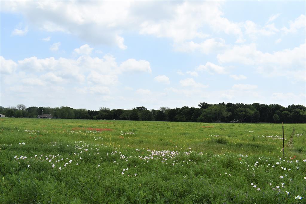
[[[257,66],[257,71],[264,76],[286,76],[297,80],[305,80],[305,44],[293,49],[285,49],[274,53],[263,53],[256,44],[234,46],[232,49],[218,54],[220,63],[240,63]]]

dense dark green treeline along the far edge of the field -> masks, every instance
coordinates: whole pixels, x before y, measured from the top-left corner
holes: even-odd
[[[200,108],[187,107],[147,110],[137,107],[132,110],[101,107],[99,111],[74,109],[70,107],[28,107],[18,104],[17,107],[0,107],[0,113],[7,117],[37,118],[42,113],[52,114],[62,119],[116,119],[116,120],[147,120],[147,121],[181,121],[181,122],[225,122],[225,123],[306,123],[306,107],[278,104],[207,104],[200,103]]]

